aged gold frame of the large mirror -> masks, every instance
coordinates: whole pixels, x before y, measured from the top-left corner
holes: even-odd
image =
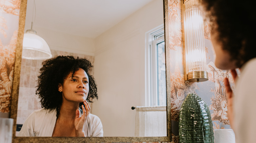
[[[170,95],[170,61],[169,61],[169,28],[168,28],[168,0],[163,0],[164,12],[164,38],[165,38],[165,63],[166,63],[166,93],[167,93],[167,136],[163,137],[17,137],[16,132],[16,118],[17,118],[17,104],[20,82],[21,69],[21,55],[22,55],[22,41],[25,28],[27,0],[21,0],[20,15],[19,15],[19,31],[17,38],[17,45],[15,50],[14,76],[11,93],[11,118],[13,121],[12,142],[171,142],[171,95]],[[167,48],[166,48],[167,47]],[[168,50],[166,50],[168,49]]]

